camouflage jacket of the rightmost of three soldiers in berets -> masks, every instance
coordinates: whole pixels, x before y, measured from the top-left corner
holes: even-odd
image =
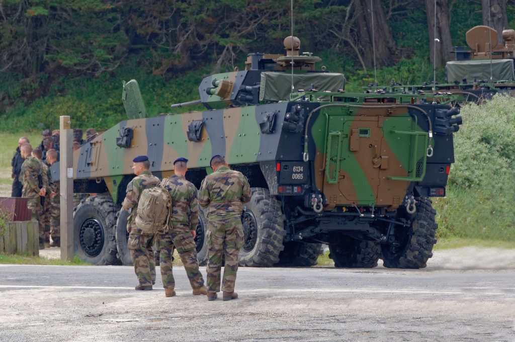
[[[248,203],[250,192],[247,178],[227,166],[220,166],[202,181],[199,191],[199,204],[208,208],[208,220],[240,219],[243,204]]]

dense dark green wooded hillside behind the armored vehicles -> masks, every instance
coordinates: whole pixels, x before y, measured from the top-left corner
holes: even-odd
[[[302,52],[345,72],[351,89],[373,80],[374,52],[378,81],[427,81],[434,2],[294,0],[293,30]],[[492,26],[515,28],[515,0],[436,2],[437,62],[465,45],[488,4]],[[291,29],[289,1],[0,0],[0,127],[12,129],[3,122],[26,113],[36,120],[75,108],[83,122],[106,117],[121,105],[121,81],[135,74],[165,97],[150,101],[195,99],[202,74],[241,67],[247,53],[284,53]],[[192,71],[194,79],[181,76]]]

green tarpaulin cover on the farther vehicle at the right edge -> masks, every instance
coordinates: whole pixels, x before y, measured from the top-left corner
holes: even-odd
[[[447,82],[453,83],[454,81],[462,82],[465,77],[467,83],[474,81],[474,76],[479,80],[490,81],[490,60],[489,59],[476,59],[467,61],[450,61],[445,66],[447,71]],[[501,80],[515,80],[513,74],[513,60],[512,59],[492,59],[492,81]]]

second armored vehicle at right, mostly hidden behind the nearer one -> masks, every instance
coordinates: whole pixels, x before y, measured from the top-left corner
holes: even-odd
[[[447,62],[445,83],[435,85],[425,82],[414,86],[396,83],[393,79],[389,86],[369,84],[365,89],[378,93],[432,94],[452,92],[458,101],[479,102],[491,99],[501,93],[515,96],[515,30],[503,30],[503,45],[497,45],[497,31],[488,26],[475,26],[467,31],[468,47],[455,46],[452,53],[455,60]]]

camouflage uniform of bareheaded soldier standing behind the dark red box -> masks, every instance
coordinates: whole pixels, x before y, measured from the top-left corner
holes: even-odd
[[[20,181],[23,184],[22,197],[29,198],[27,207],[32,210],[32,220],[38,221],[41,238],[44,237],[44,227],[40,217],[43,208],[39,196],[41,189],[38,186],[38,175],[43,179],[43,187],[48,188],[47,174],[43,172],[42,165],[36,157],[28,156],[22,164],[20,173]]]

